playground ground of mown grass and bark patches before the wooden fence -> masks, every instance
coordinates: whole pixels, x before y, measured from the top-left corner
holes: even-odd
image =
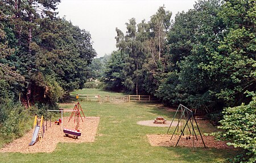
[[[166,108],[160,104],[126,102],[112,104],[109,102],[80,102],[84,110],[84,122],[80,121],[81,136],[78,139],[66,136],[52,119],[51,127],[47,122],[47,131],[42,141],[36,141],[32,146],[32,132],[14,140],[0,149],[2,162],[225,162],[226,158],[236,155],[233,148],[225,142],[216,141],[212,136],[205,136],[218,131],[207,121],[199,121],[199,128],[205,145],[183,136],[175,147],[176,136],[170,141],[177,123],[168,127],[177,108]],[[64,110],[72,110],[72,104],[60,104]],[[65,111],[64,111],[65,112]],[[60,114],[60,113],[58,113]],[[63,128],[75,130],[71,112],[65,112],[62,121]],[[155,124],[154,119],[162,116],[166,123]],[[60,117],[61,118],[61,117]],[[81,120],[81,119],[80,119]],[[138,124],[142,122],[143,124]],[[177,122],[177,119],[175,119]],[[46,124],[44,122],[44,124]],[[31,124],[32,126],[33,124]],[[159,127],[164,125],[163,127]],[[184,126],[184,123],[181,124]],[[179,132],[180,133],[180,132]],[[187,134],[187,130],[185,135]],[[175,134],[179,136],[179,134]],[[191,143],[190,143],[191,142]],[[190,145],[184,145],[190,144]],[[223,146],[224,145],[224,146]],[[222,147],[223,146],[223,147]],[[0,162],[1,162],[0,161]]]

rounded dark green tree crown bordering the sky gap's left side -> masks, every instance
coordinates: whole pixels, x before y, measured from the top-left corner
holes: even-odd
[[[42,33],[38,45],[38,67],[44,75],[54,75],[64,91],[84,86],[89,79],[88,65],[96,52],[92,48],[89,32],[81,30],[65,19],[42,20]]]

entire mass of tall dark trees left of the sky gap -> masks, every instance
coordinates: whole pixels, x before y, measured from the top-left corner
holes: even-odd
[[[59,2],[0,2],[0,80],[32,104],[52,105],[65,92],[82,88],[96,56],[89,32],[57,18]]]

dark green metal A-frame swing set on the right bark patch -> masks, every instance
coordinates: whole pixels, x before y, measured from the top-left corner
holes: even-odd
[[[197,125],[196,118],[195,118],[194,113],[193,113],[192,110],[190,110],[187,107],[185,107],[184,105],[180,104],[179,107],[176,110],[174,118],[172,119],[170,127],[168,128],[167,134],[170,131],[170,128],[171,128],[172,123],[174,122],[174,119],[178,119],[177,120],[177,126],[175,127],[175,130],[174,130],[170,140],[172,140],[172,138],[174,137],[175,132],[177,132],[177,133],[180,132],[180,136],[179,136],[179,139],[177,140],[177,143],[176,143],[175,147],[179,143],[180,138],[182,136],[186,136],[185,137],[186,140],[192,139],[193,147],[194,147],[195,138],[198,141],[196,131],[195,131],[195,127],[196,127],[197,131],[199,132],[199,134],[201,136],[201,139],[203,141],[204,147],[205,147],[204,139],[201,135],[199,126]],[[194,122],[196,124],[195,127],[194,127]],[[194,136],[195,136],[195,138],[194,138]]]

